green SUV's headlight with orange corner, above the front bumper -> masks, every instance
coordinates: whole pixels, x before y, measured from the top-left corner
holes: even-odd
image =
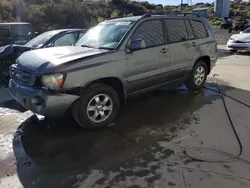
[[[64,79],[65,74],[62,73],[43,75],[42,84],[48,89],[58,90],[62,88]]]

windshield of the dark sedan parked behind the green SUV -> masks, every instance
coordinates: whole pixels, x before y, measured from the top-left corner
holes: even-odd
[[[38,35],[37,37],[31,39],[29,42],[25,44],[28,47],[41,47],[44,45],[49,39],[51,39],[54,35],[56,35],[58,31],[47,31]]]

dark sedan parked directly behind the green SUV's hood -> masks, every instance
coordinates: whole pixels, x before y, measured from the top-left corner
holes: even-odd
[[[0,81],[8,82],[9,66],[24,52],[39,48],[48,48],[54,46],[71,46],[81,38],[86,29],[60,29],[47,31],[33,38],[25,45],[7,45],[0,47]],[[2,78],[1,78],[2,77]]]

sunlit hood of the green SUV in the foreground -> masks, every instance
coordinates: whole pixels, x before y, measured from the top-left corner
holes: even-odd
[[[64,46],[32,50],[23,53],[18,59],[18,66],[29,71],[40,71],[41,67],[54,68],[61,64],[108,52],[109,50],[86,48],[81,46]]]

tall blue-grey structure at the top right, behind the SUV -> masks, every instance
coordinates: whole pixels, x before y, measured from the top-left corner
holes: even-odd
[[[229,17],[230,0],[216,0],[214,4],[214,16],[218,18]]]

